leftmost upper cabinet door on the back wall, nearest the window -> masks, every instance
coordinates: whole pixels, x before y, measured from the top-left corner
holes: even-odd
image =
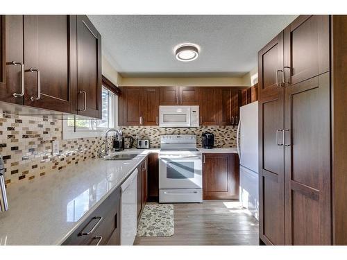
[[[141,125],[143,123],[140,114],[141,93],[141,87],[124,87],[122,95],[124,125]]]

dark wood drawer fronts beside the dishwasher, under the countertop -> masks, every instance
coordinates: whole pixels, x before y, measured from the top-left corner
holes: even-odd
[[[63,245],[117,245],[119,241],[120,189],[117,188],[62,243]]]

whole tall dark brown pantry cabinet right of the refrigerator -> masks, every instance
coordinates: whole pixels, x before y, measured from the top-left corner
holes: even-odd
[[[346,31],[346,16],[302,15],[258,53],[267,245],[347,244]]]

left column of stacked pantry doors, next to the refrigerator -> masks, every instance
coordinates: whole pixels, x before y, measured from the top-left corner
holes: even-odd
[[[282,67],[283,34],[280,33],[258,53],[260,239],[269,245],[285,244]]]

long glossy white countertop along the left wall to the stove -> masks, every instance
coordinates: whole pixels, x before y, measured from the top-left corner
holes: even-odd
[[[7,189],[10,209],[0,213],[0,245],[60,245],[126,180],[148,153],[126,161],[90,159]]]

